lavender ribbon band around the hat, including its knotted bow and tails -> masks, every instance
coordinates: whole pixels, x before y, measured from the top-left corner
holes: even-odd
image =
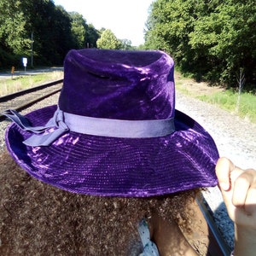
[[[34,133],[24,141],[27,146],[49,146],[67,131],[103,137],[146,138],[163,137],[175,131],[174,119],[119,120],[99,119],[65,113],[59,108],[53,118],[44,126],[32,127],[26,117],[15,110],[6,110],[4,114],[12,119],[23,131]],[[48,131],[46,134],[45,132]]]

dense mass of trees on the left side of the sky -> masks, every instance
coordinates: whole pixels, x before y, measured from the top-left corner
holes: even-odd
[[[21,56],[28,66],[61,65],[69,49],[96,47],[99,37],[82,15],[52,0],[0,2],[0,68],[20,65]]]

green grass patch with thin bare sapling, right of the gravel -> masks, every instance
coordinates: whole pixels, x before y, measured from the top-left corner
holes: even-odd
[[[240,102],[238,93],[234,90],[223,90],[212,95],[197,96],[201,101],[210,102],[236,113],[242,119],[256,123],[256,96],[250,93],[241,93]],[[239,102],[239,104],[238,104]]]

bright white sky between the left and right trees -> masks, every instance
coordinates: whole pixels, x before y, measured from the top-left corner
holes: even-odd
[[[154,0],[54,0],[67,12],[78,12],[87,24],[97,30],[110,29],[119,39],[131,40],[131,45],[144,43],[143,30],[148,8]]]

